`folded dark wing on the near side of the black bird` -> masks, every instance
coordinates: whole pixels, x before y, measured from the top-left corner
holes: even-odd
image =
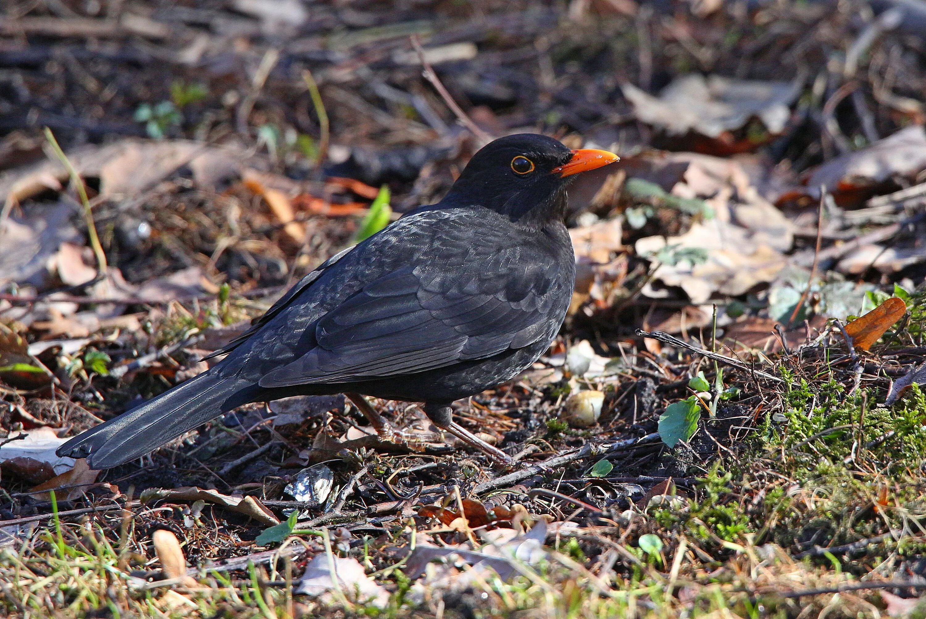
[[[364,285],[319,319],[315,346],[260,386],[418,373],[555,334],[570,284],[557,257],[517,244],[495,245],[493,253],[473,245]]]

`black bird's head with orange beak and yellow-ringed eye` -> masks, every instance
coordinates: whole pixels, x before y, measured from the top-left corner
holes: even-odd
[[[507,135],[469,159],[444,202],[492,208],[513,220],[561,219],[574,175],[617,160],[607,150],[569,150],[545,135]]]

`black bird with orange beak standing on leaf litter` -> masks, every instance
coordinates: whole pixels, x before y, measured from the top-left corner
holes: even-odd
[[[564,224],[573,174],[616,161],[553,138],[484,146],[444,199],[327,260],[231,344],[225,359],[75,436],[59,456],[117,466],[249,402],[346,393],[424,402],[424,411],[495,461],[511,459],[452,419],[450,404],[529,367],[557,335],[575,262]]]

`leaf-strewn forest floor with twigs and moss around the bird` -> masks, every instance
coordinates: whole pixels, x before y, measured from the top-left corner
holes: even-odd
[[[892,2],[6,2],[2,613],[923,616],[924,32]],[[457,403],[515,468],[343,397],[54,455],[519,132],[621,161],[570,190],[554,346]]]

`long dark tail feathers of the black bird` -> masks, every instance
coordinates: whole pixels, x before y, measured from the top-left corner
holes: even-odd
[[[140,458],[197,425],[231,411],[233,394],[249,382],[201,373],[141,406],[110,419],[57,449],[57,455],[87,458],[92,469],[108,469]],[[234,406],[242,404],[241,398]]]

